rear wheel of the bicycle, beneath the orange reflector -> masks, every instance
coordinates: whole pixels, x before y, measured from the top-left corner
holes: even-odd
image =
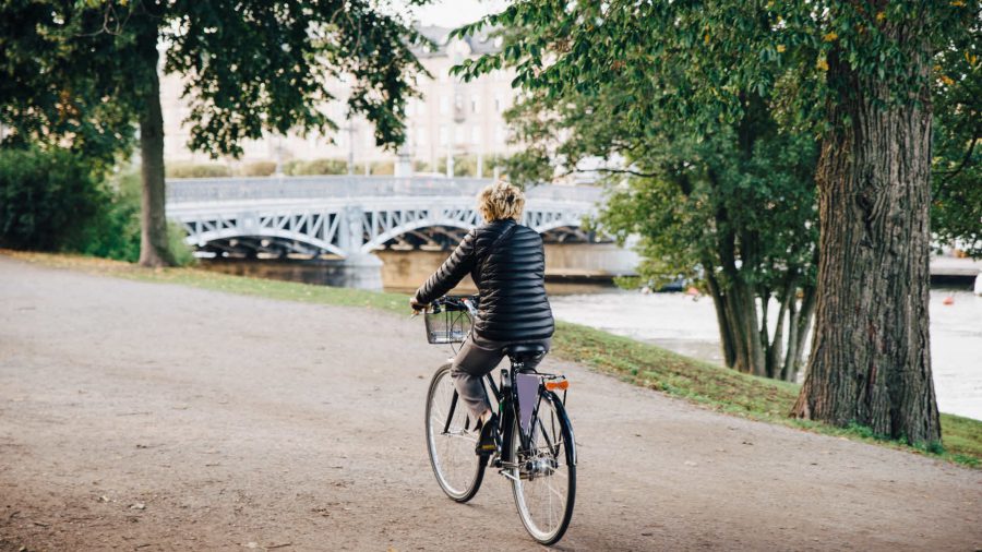
[[[573,517],[576,499],[576,444],[559,397],[544,393],[534,420],[528,449],[523,449],[518,421],[512,431],[512,492],[518,517],[542,544],[559,541]]]

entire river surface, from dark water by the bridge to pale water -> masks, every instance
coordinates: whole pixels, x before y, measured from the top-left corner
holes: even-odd
[[[411,292],[446,256],[445,252],[382,252],[386,290]],[[246,276],[337,285],[336,262],[204,261],[202,266]],[[472,291],[465,281],[459,291]],[[556,319],[652,343],[675,352],[722,364],[716,313],[709,298],[683,293],[623,291],[610,283],[550,278]],[[943,304],[946,297],[953,304]],[[777,311],[777,309],[771,309]],[[982,420],[982,297],[971,291],[934,289],[931,293],[931,351],[937,403],[943,412]]]

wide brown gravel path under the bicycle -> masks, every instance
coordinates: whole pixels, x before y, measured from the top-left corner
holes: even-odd
[[[0,256],[0,550],[538,550],[441,494],[418,320]],[[572,380],[563,550],[978,550],[982,471]]]

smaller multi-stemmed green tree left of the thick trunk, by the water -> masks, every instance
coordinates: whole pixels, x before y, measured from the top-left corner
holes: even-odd
[[[815,304],[814,141],[780,132],[761,97],[740,123],[696,130],[647,103],[675,85],[664,75],[609,81],[589,94],[530,95],[506,113],[523,144],[508,177],[541,182],[556,166],[559,177],[607,175],[599,221],[622,242],[640,236],[640,275],[700,283],[716,308],[724,363],[795,381]],[[651,119],[636,124],[636,110]]]

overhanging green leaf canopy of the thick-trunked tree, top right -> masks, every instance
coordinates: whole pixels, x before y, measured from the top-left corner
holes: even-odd
[[[464,36],[490,25],[519,28],[501,52],[465,60],[457,74],[513,67],[515,85],[562,97],[590,94],[612,81],[643,84],[671,74],[646,101],[687,124],[711,129],[743,117],[743,95],[781,97],[785,121],[823,130],[826,99],[847,97],[855,83],[826,83],[835,53],[860,77],[889,86],[888,100],[906,101],[925,75],[911,75],[910,49],[887,29],[920,20],[942,43],[967,27],[978,3],[817,0],[660,2],[519,0],[498,14],[455,31]],[[631,85],[630,88],[638,88]],[[829,93],[833,94],[829,94]],[[635,124],[651,119],[634,110]]]

